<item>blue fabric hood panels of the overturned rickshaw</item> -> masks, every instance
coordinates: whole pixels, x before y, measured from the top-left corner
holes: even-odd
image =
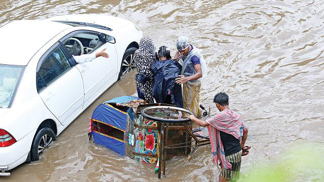
[[[92,120],[110,125],[123,131],[125,134],[128,124],[128,116],[130,116],[131,120],[134,120],[133,109],[129,108],[127,112],[124,112],[114,108],[112,105],[110,105],[110,103],[126,103],[134,99],[139,98],[123,96],[106,101],[97,106],[97,108],[94,110]],[[91,133],[95,143],[106,146],[120,155],[125,155],[125,145],[128,141],[121,141],[98,131],[92,131]]]

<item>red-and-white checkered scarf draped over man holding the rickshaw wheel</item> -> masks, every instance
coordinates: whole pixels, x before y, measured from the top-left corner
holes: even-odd
[[[214,118],[210,118],[206,121],[210,124],[208,126],[208,132],[214,155],[213,160],[217,165],[218,160],[220,159],[224,169],[232,169],[231,164],[226,161],[224,147],[219,131],[231,134],[240,141],[243,132],[248,128],[241,122],[240,115],[230,109],[225,109],[219,114],[216,114]]]

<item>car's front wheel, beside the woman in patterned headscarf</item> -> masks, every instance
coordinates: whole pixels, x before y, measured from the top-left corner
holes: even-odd
[[[134,53],[137,50],[137,48],[129,48],[125,51],[123,59],[121,60],[120,65],[120,71],[118,75],[118,80],[125,76],[127,72],[132,70],[133,68],[136,68],[135,62],[134,62]]]

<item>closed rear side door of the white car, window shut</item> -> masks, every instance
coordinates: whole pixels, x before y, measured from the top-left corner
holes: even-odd
[[[36,83],[38,95],[63,124],[69,124],[83,109],[84,85],[79,70],[57,42],[39,60]]]

